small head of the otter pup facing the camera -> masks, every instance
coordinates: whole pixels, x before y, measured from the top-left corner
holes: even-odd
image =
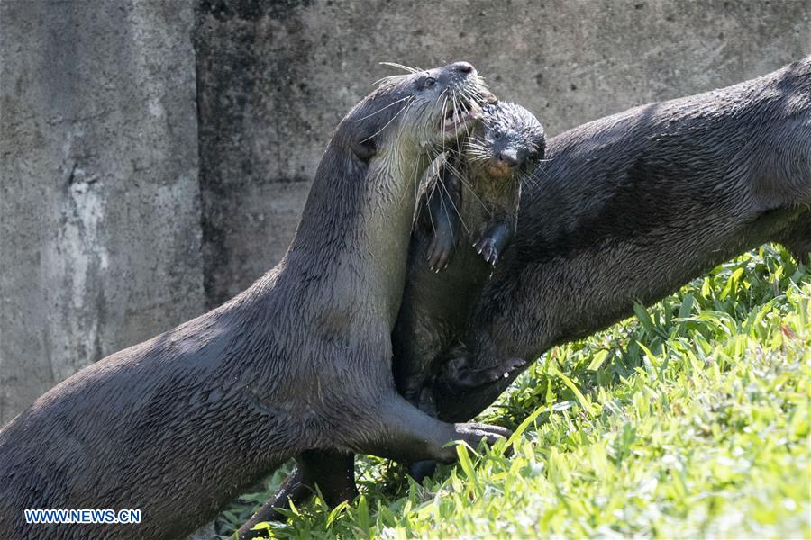
[[[470,164],[484,167],[493,178],[506,180],[531,175],[545,150],[541,122],[515,103],[484,107],[482,122],[464,147]]]

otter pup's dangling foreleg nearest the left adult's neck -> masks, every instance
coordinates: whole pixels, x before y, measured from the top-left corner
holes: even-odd
[[[442,163],[425,204],[432,228],[429,230],[433,232],[428,245],[428,267],[439,272],[451,261],[460,231],[461,185],[447,162]]]

